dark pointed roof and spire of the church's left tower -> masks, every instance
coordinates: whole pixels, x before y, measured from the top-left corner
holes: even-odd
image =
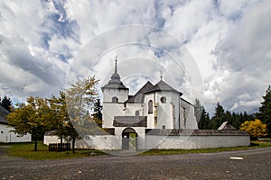
[[[120,76],[117,73],[117,58],[116,58],[116,64],[115,64],[115,72],[111,76],[111,79],[108,81],[107,85],[104,85],[101,87],[102,90],[104,88],[109,88],[109,89],[128,89],[126,85],[123,85],[123,83],[120,80]]]

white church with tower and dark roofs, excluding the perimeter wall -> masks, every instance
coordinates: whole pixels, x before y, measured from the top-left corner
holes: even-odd
[[[102,88],[103,128],[198,130],[193,105],[182,99],[182,93],[161,80],[149,81],[129,95],[115,72]]]

